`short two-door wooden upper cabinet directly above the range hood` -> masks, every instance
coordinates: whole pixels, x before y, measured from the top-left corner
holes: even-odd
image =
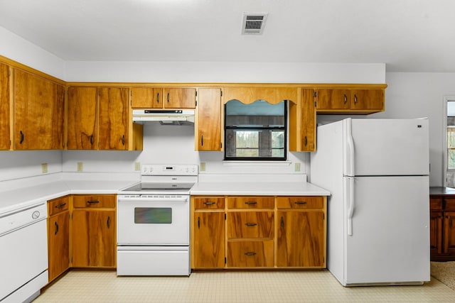
[[[196,88],[194,87],[132,87],[133,109],[194,109]]]

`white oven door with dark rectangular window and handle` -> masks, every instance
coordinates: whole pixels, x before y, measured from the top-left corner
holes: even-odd
[[[188,246],[190,197],[117,196],[117,244]]]

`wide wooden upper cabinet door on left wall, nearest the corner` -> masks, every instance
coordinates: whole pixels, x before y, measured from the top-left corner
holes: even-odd
[[[62,149],[64,116],[63,85],[15,70],[14,149]]]

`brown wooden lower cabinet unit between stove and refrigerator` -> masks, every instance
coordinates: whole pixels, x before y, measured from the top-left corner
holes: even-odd
[[[326,197],[191,197],[191,268],[326,268]]]

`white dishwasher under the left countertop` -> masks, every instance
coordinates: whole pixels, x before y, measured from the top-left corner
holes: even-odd
[[[48,283],[46,202],[0,214],[0,302],[30,302]]]

